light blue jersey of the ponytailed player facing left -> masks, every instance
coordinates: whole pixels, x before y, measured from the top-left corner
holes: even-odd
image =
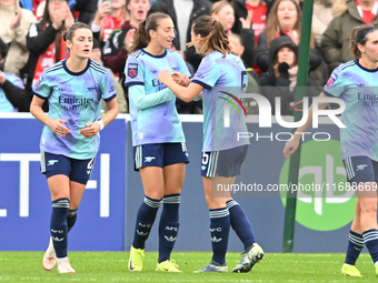
[[[202,151],[229,150],[249,144],[249,139],[238,139],[238,133],[248,132],[245,110],[239,104],[239,93],[245,92],[248,84],[240,58],[231,53],[222,58],[221,52],[213,51],[202,59],[191,82],[205,88]],[[229,114],[226,113],[228,127],[225,125],[226,107],[229,110]]]

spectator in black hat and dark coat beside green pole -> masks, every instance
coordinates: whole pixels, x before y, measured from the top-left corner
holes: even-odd
[[[268,72],[261,74],[260,85],[271,108],[271,113],[276,111],[276,98],[281,98],[281,114],[292,115],[295,108],[295,88],[298,75],[298,46],[287,36],[276,38],[270,44],[270,68]],[[307,79],[307,97],[317,97],[320,89],[314,81]],[[310,104],[310,103],[309,103]]]

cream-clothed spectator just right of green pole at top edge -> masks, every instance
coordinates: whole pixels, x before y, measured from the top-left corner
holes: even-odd
[[[315,0],[312,12],[312,32],[317,44],[320,47],[322,33],[334,19],[332,3],[335,0]]]

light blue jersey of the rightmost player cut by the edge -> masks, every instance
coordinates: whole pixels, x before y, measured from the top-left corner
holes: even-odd
[[[342,159],[364,155],[378,161],[378,69],[357,60],[336,68],[322,91],[346,103],[340,143]]]

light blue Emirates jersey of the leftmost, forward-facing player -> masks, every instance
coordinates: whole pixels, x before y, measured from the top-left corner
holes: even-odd
[[[110,101],[116,98],[109,71],[88,59],[86,69],[74,73],[63,60],[43,70],[33,92],[38,98],[49,101],[49,117],[67,120],[63,125],[71,131],[62,138],[44,125],[40,149],[79,160],[94,158],[100,135],[84,138],[80,130],[86,128],[86,123],[98,120],[101,99]]]

